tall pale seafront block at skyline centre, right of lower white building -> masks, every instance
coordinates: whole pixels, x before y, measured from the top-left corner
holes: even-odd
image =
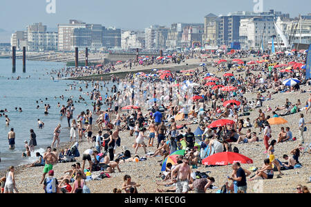
[[[164,26],[150,26],[144,30],[146,50],[165,50],[169,28]]]

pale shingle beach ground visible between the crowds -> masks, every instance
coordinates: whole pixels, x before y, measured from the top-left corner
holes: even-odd
[[[247,61],[256,58],[247,58]],[[246,60],[246,59],[245,59]],[[214,59],[209,59],[209,63],[214,61]],[[201,62],[196,59],[192,59],[189,63],[196,63],[197,65]],[[153,68],[136,68],[131,72],[140,72],[141,70],[150,70]],[[161,67],[164,68],[164,67]],[[202,70],[202,68],[197,67],[198,70]],[[180,66],[180,69],[182,66]],[[189,68],[187,68],[189,69]],[[218,77],[222,77],[225,72],[218,72],[214,67],[207,67],[208,72],[214,73]],[[234,70],[231,70],[232,72]],[[130,72],[129,70],[125,70],[124,72]],[[258,75],[261,71],[252,71],[254,75]],[[245,77],[245,72],[236,72],[234,71],[234,75],[241,75]],[[201,75],[200,77],[204,77]],[[81,78],[83,79],[83,77]],[[86,78],[87,79],[87,78]],[[310,90],[310,86],[301,86],[303,90]],[[256,101],[256,92],[245,92],[244,97],[247,98],[248,101],[254,100]],[[300,93],[299,91],[296,92],[284,92],[284,93],[277,93],[272,95],[272,100],[264,101],[263,106],[260,107],[262,110],[265,109],[267,105],[271,108],[275,108],[276,106],[282,106],[285,102],[285,99],[289,99],[291,103],[296,103],[297,99],[300,99],[302,106],[304,106],[305,102],[308,101],[308,92]],[[207,104],[207,108],[211,107],[211,101]],[[249,117],[251,121],[258,117],[258,109],[256,108],[254,111],[250,112],[249,116],[243,117],[243,119]],[[147,114],[147,110],[144,108],[142,110],[143,114]],[[275,157],[278,159],[283,160],[283,155],[290,155],[290,151],[294,148],[298,148],[299,145],[299,115],[303,113],[305,115],[305,110],[302,112],[298,112],[294,115],[287,115],[284,117],[288,124],[283,124],[282,126],[290,127],[292,131],[293,137],[297,137],[297,141],[287,141],[283,143],[279,143],[275,147]],[[266,112],[265,115],[272,115],[272,112]],[[97,117],[96,117],[97,119]],[[230,119],[230,118],[229,118]],[[305,115],[305,121],[308,122],[311,120],[311,115]],[[185,121],[177,121],[177,125],[185,124]],[[310,143],[310,124],[306,125],[308,130],[305,132],[305,144]],[[188,125],[191,128],[191,131],[194,132],[198,127],[198,124],[190,124]],[[281,126],[276,125],[272,126],[272,139],[277,139]],[[98,128],[94,129],[93,132],[97,132]],[[245,129],[243,129],[245,132]],[[243,168],[249,169],[251,167],[260,168],[263,166],[263,159],[267,157],[265,154],[265,146],[263,144],[263,135],[259,135],[258,128],[252,128],[252,132],[257,132],[257,135],[261,141],[255,143],[248,143],[248,144],[232,144],[232,148],[237,146],[239,152],[254,161],[254,164],[242,164]],[[68,135],[69,136],[69,135]],[[120,132],[121,138],[121,146],[126,146],[132,154],[133,154],[133,142],[135,138],[129,137],[129,131]],[[62,139],[68,139],[68,137],[62,137]],[[270,139],[271,140],[271,139]],[[155,141],[156,142],[156,141]],[[63,146],[62,148],[68,147],[68,144]],[[79,152],[80,157],[77,157],[76,160],[82,164],[82,153],[84,150],[88,149],[89,146],[84,139],[84,142],[79,143]],[[156,147],[148,147],[147,152],[154,152]],[[122,147],[117,148],[116,154],[122,152]],[[138,155],[143,157],[143,150],[140,148],[138,150]],[[160,181],[161,179],[158,177],[160,173],[160,163],[158,162],[162,157],[147,157],[146,161],[139,161],[139,162],[126,162],[125,164],[120,164],[120,169],[122,172],[113,172],[111,173],[111,178],[104,178],[102,180],[93,180],[93,181],[86,181],[86,185],[90,188],[91,193],[112,193],[113,188],[121,188],[123,183],[124,175],[130,175],[132,177],[132,181],[135,181],[141,186],[138,188],[139,193],[156,193],[157,188],[163,188],[162,186],[157,186],[156,182]],[[293,170],[283,170],[282,172],[284,175],[281,178],[274,178],[274,179],[265,179],[263,180],[263,186],[260,189],[259,193],[294,193],[296,185],[302,184],[303,186],[307,186],[308,188],[311,187],[311,184],[307,184],[309,177],[310,177],[310,155],[307,153],[305,155],[301,155],[299,161],[303,164],[302,168],[297,168]],[[70,166],[73,163],[58,163],[53,167],[55,171],[55,177],[59,178],[64,175],[66,170],[70,169]],[[86,167],[88,167],[88,163],[86,162]],[[19,189],[19,193],[44,193],[43,186],[39,185],[39,180],[41,178],[43,167],[36,167],[36,168],[20,168],[16,175],[16,183],[17,188]],[[117,171],[117,170],[116,170]],[[214,166],[206,168],[205,166],[198,166],[197,169],[194,171],[206,172],[210,171],[209,176],[214,177],[216,179],[215,183],[213,184],[216,186],[216,189],[207,190],[207,193],[216,193],[217,190],[220,190],[221,186],[223,186],[228,180],[227,176],[230,176],[232,173],[231,166]],[[93,172],[98,173],[98,172]],[[276,177],[276,176],[275,176]],[[258,183],[256,181],[247,181],[247,193],[258,193],[258,188],[256,187]],[[192,193],[192,192],[190,192]]]

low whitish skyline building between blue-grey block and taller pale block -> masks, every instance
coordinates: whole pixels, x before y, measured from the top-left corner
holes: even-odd
[[[133,32],[131,30],[126,30],[121,34],[121,45],[123,50],[133,50],[133,49],[142,49],[143,43],[141,34],[142,32]],[[144,38],[144,36],[143,36]]]

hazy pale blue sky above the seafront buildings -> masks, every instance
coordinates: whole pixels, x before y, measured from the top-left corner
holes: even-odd
[[[55,13],[46,12],[47,1],[55,1]],[[58,23],[68,23],[69,19],[131,30],[154,24],[203,23],[209,13],[253,11],[258,1],[263,1],[263,11],[274,9],[290,13],[290,17],[311,12],[310,0],[1,0],[0,36],[25,30],[35,22],[57,28]]]

